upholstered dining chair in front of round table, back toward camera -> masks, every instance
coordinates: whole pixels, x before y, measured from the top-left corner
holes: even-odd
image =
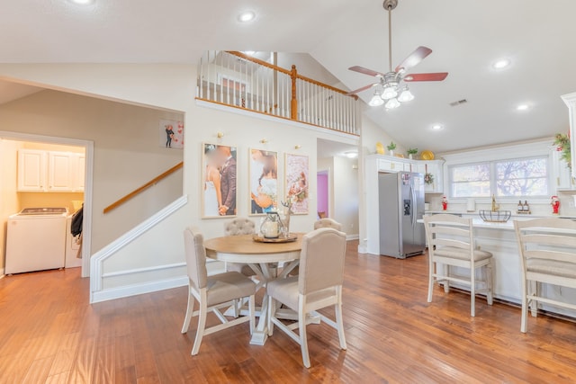
[[[302,362],[310,368],[306,315],[313,312],[320,319],[338,330],[340,348],[347,349],[342,322],[342,283],[346,257],[346,234],[334,228],[320,228],[302,238],[300,274],[286,279],[269,281],[268,335],[273,335],[278,326],[286,335],[301,345]],[[278,304],[284,304],[297,313],[298,321],[284,324],[276,317]],[[334,306],[335,320],[316,312],[320,308]],[[294,329],[298,328],[298,334]]]

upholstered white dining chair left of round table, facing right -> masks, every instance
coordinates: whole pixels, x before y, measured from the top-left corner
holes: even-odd
[[[192,317],[198,317],[192,355],[198,353],[203,335],[210,335],[246,322],[250,323],[252,334],[256,322],[254,299],[256,283],[238,272],[224,272],[209,277],[206,271],[206,250],[202,235],[194,234],[191,228],[184,230],[184,252],[188,272],[188,306],[182,326],[183,334],[188,331]],[[222,315],[220,308],[229,308],[235,300],[243,298],[248,298],[248,316],[229,320]],[[193,310],[194,300],[198,300],[199,305],[196,311]],[[221,324],[206,328],[206,317],[209,312],[213,312]]]

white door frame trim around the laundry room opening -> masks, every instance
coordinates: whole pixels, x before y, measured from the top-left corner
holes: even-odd
[[[82,229],[82,277],[90,276],[90,249],[92,246],[92,201],[94,174],[94,141],[77,138],[59,138],[0,130],[0,138],[14,141],[34,141],[62,146],[85,148],[84,219]]]

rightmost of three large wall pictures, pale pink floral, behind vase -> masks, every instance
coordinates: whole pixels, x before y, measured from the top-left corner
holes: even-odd
[[[309,158],[303,155],[286,154],[286,200],[292,202],[293,214],[308,214]]]

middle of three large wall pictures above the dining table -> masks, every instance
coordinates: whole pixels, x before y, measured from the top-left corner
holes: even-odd
[[[264,215],[278,207],[278,153],[250,148],[250,216]]]

